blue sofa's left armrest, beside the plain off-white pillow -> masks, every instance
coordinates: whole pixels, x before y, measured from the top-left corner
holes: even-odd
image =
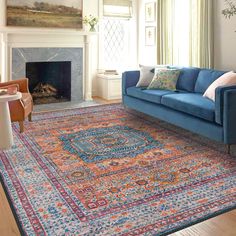
[[[140,71],[125,71],[122,73],[122,94],[125,95],[126,89],[138,83]]]

